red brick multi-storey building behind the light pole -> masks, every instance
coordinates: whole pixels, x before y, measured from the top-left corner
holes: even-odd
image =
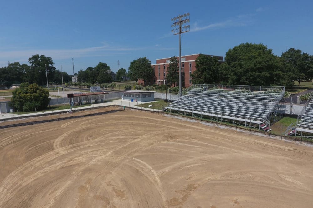
[[[192,85],[192,78],[190,77],[190,74],[193,73],[196,70],[196,58],[200,54],[192,54],[192,55],[186,55],[182,56],[181,63],[182,63],[182,76],[185,76],[185,87],[189,87]],[[206,55],[206,54],[205,54]],[[213,56],[213,55],[207,55],[212,57],[218,57],[218,60],[220,62],[223,62],[223,56]],[[179,57],[176,57],[177,59]],[[155,84],[165,84],[165,76],[167,74],[167,67],[170,63],[170,58],[161,58],[156,59],[156,64],[151,64],[153,71],[154,71],[154,83]],[[138,83],[143,83],[142,80],[138,80]],[[178,85],[178,84],[177,84]]]

